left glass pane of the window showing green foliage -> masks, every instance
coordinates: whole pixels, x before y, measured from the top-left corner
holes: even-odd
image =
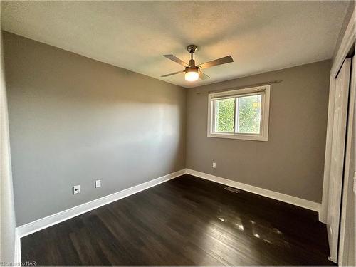
[[[235,98],[215,100],[215,132],[234,132]]]

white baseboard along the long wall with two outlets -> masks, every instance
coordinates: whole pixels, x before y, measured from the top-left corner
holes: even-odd
[[[104,206],[104,205],[109,204],[113,201],[117,201],[124,197],[128,197],[131,194],[135,194],[142,190],[148,189],[150,187],[154,187],[155,185],[161,184],[162,182],[167,182],[168,180],[179,177],[185,173],[186,173],[186,170],[181,169],[178,172],[172,172],[171,174],[164,175],[162,177],[153,179],[153,180],[145,182],[143,184],[137,184],[134,187],[124,189],[120,192],[116,192],[114,194],[109,194],[108,196],[105,196],[105,197],[100,197],[100,199],[94,199],[93,201],[89,201],[89,202],[81,204],[79,206],[74,206],[73,208],[66,209],[65,211],[60,211],[56,214],[46,216],[42,219],[32,221],[28,224],[23,224],[16,228],[17,234],[20,239],[23,236],[27,236],[28,234],[32,234],[36,231],[40,231],[41,229],[45,229],[45,228],[52,226],[54,224],[58,224],[61,221],[66,221],[70,218],[73,218],[73,217],[83,214],[85,212],[91,211],[91,210],[96,209],[100,206]],[[19,249],[19,247],[17,249]],[[21,249],[20,249],[20,251],[21,251]]]

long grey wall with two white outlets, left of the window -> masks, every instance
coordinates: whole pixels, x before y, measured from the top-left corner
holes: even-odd
[[[4,52],[18,226],[185,167],[186,89],[11,33]]]

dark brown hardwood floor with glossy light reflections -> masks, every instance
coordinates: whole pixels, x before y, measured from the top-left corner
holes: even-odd
[[[318,214],[183,175],[21,239],[37,266],[326,266]]]

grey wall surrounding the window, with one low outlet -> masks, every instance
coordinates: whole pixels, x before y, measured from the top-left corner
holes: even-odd
[[[189,89],[187,168],[320,202],[329,73],[330,61],[320,61]],[[268,142],[206,137],[207,92],[278,79],[271,85]]]

